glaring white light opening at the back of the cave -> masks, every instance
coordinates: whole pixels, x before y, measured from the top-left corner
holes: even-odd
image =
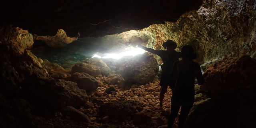
[[[95,54],[92,58],[94,57],[98,57],[98,58],[114,58],[114,59],[120,59],[123,56],[136,56],[138,54],[143,54],[144,52],[146,52],[145,50],[141,49],[141,48],[136,48],[127,52],[122,52],[120,54],[102,54],[102,56],[98,56],[97,54]]]

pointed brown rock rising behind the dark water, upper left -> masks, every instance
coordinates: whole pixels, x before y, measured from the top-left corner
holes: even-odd
[[[36,34],[33,34],[33,37],[34,40],[44,41],[50,47],[63,47],[78,39],[76,37],[68,37],[63,29],[58,29],[55,36],[37,36]]]

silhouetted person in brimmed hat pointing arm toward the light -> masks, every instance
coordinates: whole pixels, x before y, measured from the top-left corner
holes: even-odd
[[[167,40],[162,45],[166,50],[154,50],[152,48],[146,48],[140,44],[138,44],[138,48],[142,48],[148,52],[151,52],[153,54],[156,54],[161,57],[163,64],[161,66],[162,68],[162,74],[160,79],[160,109],[163,109],[163,100],[164,100],[164,94],[167,92],[168,86],[170,86],[171,89],[174,88],[174,84],[170,84],[169,75],[172,70],[172,65],[175,61],[179,60],[180,58],[180,52],[176,52],[174,49],[177,48],[176,42],[173,40]]]

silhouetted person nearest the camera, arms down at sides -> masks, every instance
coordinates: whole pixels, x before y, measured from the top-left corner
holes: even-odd
[[[196,54],[190,45],[183,46],[181,49],[180,61],[174,62],[170,80],[176,82],[171,98],[171,114],[168,118],[168,128],[172,128],[172,124],[181,108],[179,116],[179,128],[183,128],[184,122],[194,104],[194,84],[197,78],[200,85],[204,84],[200,65],[194,62]]]

